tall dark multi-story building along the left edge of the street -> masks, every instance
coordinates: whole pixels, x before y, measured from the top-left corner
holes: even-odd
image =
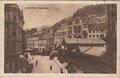
[[[5,4],[5,66],[4,72],[17,72],[23,54],[23,12],[16,4]]]

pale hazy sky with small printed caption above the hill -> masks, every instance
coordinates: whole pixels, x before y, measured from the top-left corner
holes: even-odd
[[[81,4],[18,4],[23,10],[24,29],[52,26],[63,18],[72,16]]]

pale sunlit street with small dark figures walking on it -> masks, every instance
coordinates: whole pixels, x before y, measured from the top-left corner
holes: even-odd
[[[36,60],[38,60],[38,65],[36,65]],[[50,60],[49,56],[36,55],[31,62],[33,63],[32,73],[61,73],[60,68],[63,69],[63,73],[67,73],[64,65],[59,63],[57,58],[55,58],[54,60]],[[51,71],[50,65],[52,65]]]

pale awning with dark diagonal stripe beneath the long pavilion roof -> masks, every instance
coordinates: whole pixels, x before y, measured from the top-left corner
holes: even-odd
[[[101,56],[103,54],[103,52],[106,51],[106,47],[98,47],[98,46],[84,46],[84,47],[79,47],[79,50],[81,51],[81,53],[84,54],[89,54],[89,55],[93,55],[93,56]]]

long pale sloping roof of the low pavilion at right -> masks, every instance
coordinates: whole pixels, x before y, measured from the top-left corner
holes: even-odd
[[[66,44],[105,44],[101,38],[64,38]]]

